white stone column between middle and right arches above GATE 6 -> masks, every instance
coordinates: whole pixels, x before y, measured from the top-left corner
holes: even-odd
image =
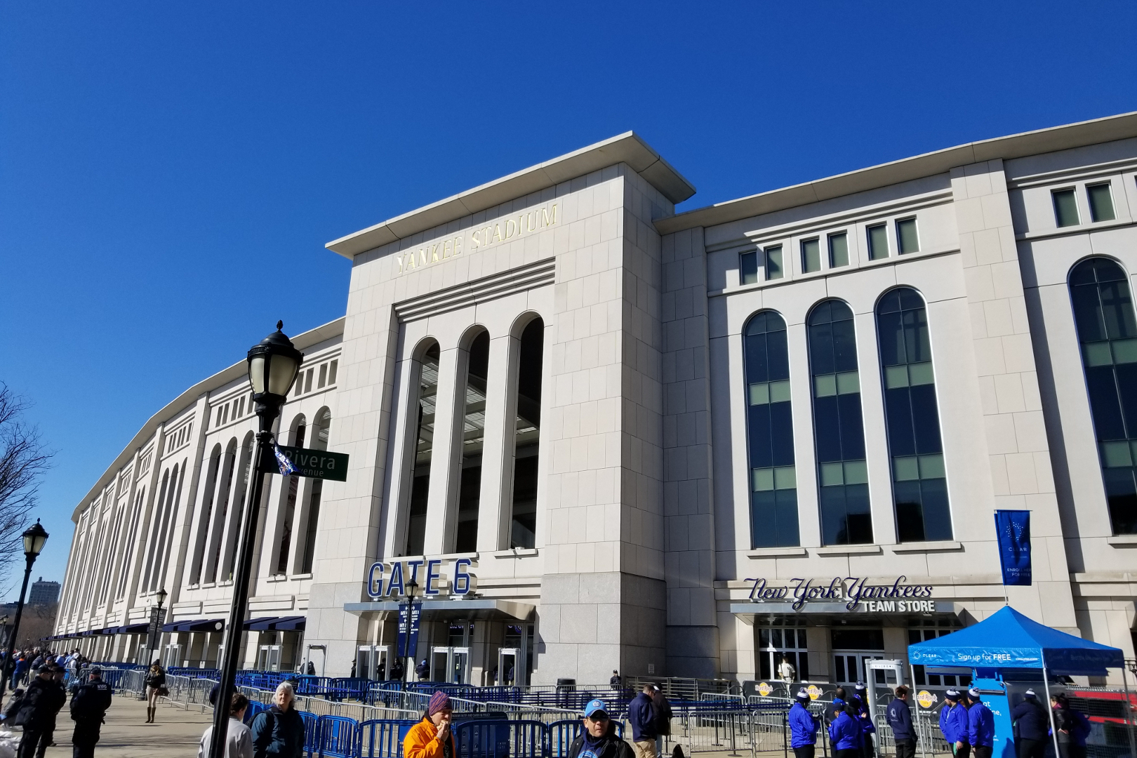
[[[508,547],[513,501],[513,447],[516,426],[517,377],[513,370],[520,342],[505,334],[490,340],[485,377],[485,442],[482,445],[482,491],[478,513],[478,550]]]

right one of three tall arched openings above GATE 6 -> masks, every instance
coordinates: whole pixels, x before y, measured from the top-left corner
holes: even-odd
[[[537,461],[541,433],[541,356],[545,322],[534,318],[521,333],[517,361],[517,423],[514,434],[513,508],[509,547],[537,547]]]

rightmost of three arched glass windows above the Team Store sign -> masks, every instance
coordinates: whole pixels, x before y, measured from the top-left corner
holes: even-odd
[[[885,375],[896,536],[901,542],[951,540],[928,310],[920,293],[904,286],[881,298],[877,333]]]

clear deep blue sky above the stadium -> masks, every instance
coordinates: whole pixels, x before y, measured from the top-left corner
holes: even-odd
[[[277,318],[343,314],[329,240],[626,130],[696,208],[1137,110],[1135,28],[1132,2],[3,2],[0,380],[58,451],[35,574],[151,414]]]

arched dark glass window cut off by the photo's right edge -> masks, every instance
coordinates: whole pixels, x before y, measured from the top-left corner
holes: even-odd
[[[1129,280],[1109,258],[1070,272],[1089,408],[1114,534],[1137,534],[1137,322]]]

